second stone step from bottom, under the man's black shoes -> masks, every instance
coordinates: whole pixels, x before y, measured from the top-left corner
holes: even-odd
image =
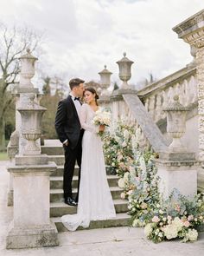
[[[116,213],[126,213],[128,211],[127,200],[113,200]],[[77,207],[67,206],[63,202],[50,203],[50,217],[61,217],[65,214],[77,213]]]

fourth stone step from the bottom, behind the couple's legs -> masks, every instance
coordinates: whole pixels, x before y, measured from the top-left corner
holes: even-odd
[[[110,187],[118,186],[118,176],[107,175],[107,181]],[[78,176],[73,176],[73,187],[78,185]],[[62,188],[63,187],[63,177],[62,176],[52,176],[50,177],[50,188]]]

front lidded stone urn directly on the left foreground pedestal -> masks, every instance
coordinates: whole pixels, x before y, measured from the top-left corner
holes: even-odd
[[[41,119],[46,108],[35,103],[35,94],[30,94],[29,100],[27,105],[17,108],[22,116],[22,136],[27,140],[24,154],[41,154],[35,141],[41,137]]]

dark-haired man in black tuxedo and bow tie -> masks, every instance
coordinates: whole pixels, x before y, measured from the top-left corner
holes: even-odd
[[[81,164],[81,140],[84,130],[80,127],[80,98],[84,93],[84,81],[80,78],[73,78],[69,82],[71,89],[67,99],[58,104],[55,117],[55,129],[63,144],[65,152],[65,165],[63,177],[64,201],[69,206],[76,206],[80,188],[80,170],[78,180],[78,192],[75,200],[72,193],[72,181],[75,162]]]

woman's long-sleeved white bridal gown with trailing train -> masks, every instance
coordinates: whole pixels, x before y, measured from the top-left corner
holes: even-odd
[[[92,124],[95,112],[88,104],[80,110],[81,127],[85,129],[82,139],[80,194],[76,214],[61,217],[68,230],[78,226],[88,227],[90,220],[108,220],[116,217],[112,194],[105,173],[102,141],[97,135],[98,127]]]

